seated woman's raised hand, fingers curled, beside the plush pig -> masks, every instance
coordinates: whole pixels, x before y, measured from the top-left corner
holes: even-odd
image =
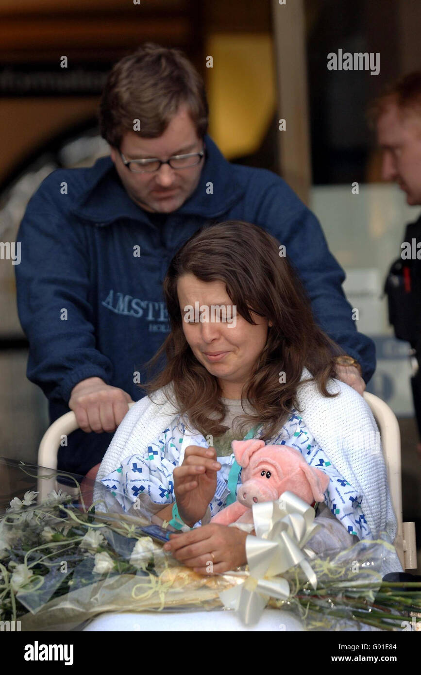
[[[217,471],[221,468],[216,458],[215,448],[189,445],[183,463],[173,470],[179,516],[190,527],[203,518],[215,495]]]

